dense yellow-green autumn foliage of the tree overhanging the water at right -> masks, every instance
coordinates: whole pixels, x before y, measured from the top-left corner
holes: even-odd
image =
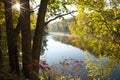
[[[74,42],[79,44],[82,49],[96,55],[101,54],[103,57],[118,55],[120,49],[120,36],[118,36],[120,34],[120,8],[110,5],[104,0],[79,1],[77,25],[70,27],[71,32],[79,37]]]

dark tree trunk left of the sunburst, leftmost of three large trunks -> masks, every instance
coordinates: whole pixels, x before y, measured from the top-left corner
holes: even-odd
[[[15,46],[15,36],[12,22],[12,0],[4,0],[5,20],[7,32],[7,46],[9,53],[9,65],[12,72],[19,72],[18,53]]]

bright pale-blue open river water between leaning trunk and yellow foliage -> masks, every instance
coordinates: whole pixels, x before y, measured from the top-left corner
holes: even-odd
[[[59,62],[60,60],[69,57],[85,60],[82,50],[71,45],[55,41],[52,39],[52,36],[48,36],[47,39],[48,50],[45,50],[44,55],[41,56],[41,59],[45,59],[49,64]]]

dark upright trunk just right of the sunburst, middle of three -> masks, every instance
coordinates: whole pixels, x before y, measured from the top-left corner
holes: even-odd
[[[29,0],[20,0],[20,26],[22,30],[22,60],[24,76],[33,79],[32,54],[31,54],[31,31],[30,31],[30,6]]]

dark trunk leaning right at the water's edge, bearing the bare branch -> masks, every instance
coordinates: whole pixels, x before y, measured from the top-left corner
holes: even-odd
[[[48,0],[41,0],[40,2],[37,24],[35,29],[35,36],[33,39],[32,57],[33,57],[33,61],[35,62],[37,61],[37,63],[39,62],[41,46],[42,46],[42,37],[45,26],[45,14],[47,9],[47,2]],[[33,69],[38,73],[39,66],[34,66]]]

